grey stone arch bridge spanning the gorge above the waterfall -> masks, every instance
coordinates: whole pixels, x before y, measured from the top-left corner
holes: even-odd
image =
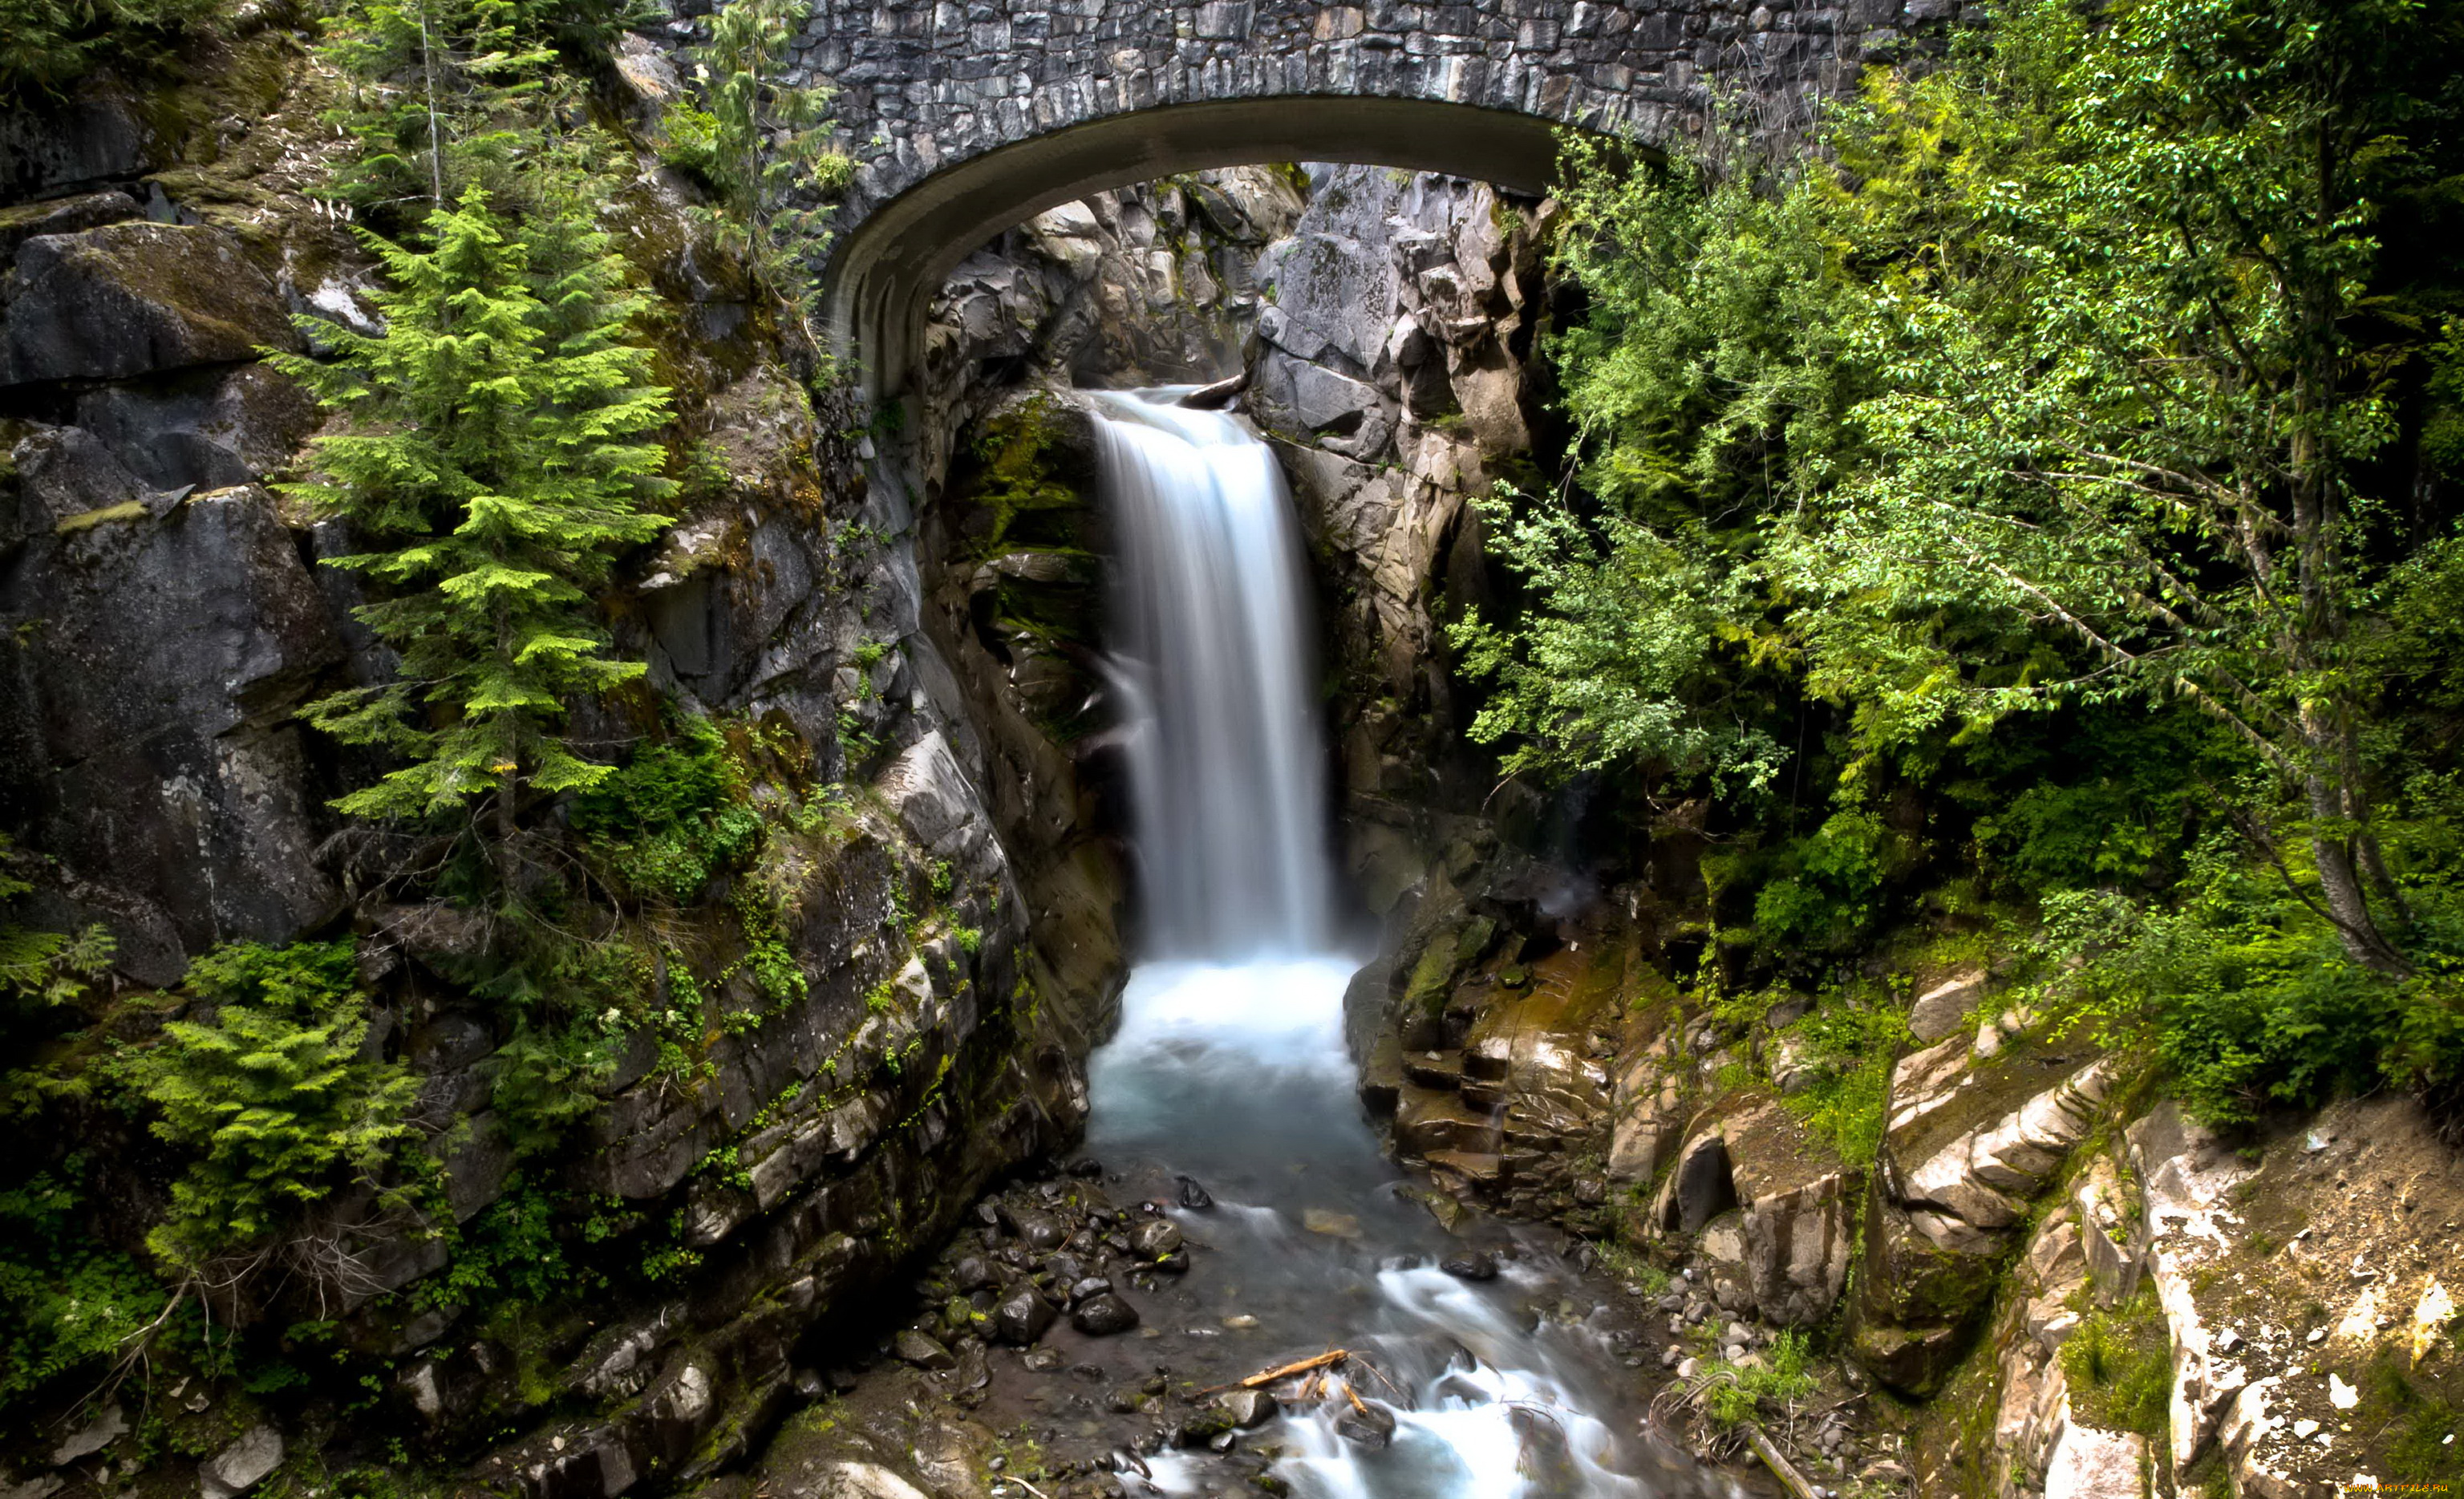
[[[806,76],[857,158],[833,335],[907,382],[931,293],[1010,224],[1101,187],[1353,160],[1540,192],[1562,126],[1658,145],[1715,89],[1801,121],[1961,0],[813,0]]]

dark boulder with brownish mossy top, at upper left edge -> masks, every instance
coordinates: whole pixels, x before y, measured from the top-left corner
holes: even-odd
[[[37,234],[17,251],[0,387],[241,362],[261,348],[303,345],[271,276],[222,229]]]

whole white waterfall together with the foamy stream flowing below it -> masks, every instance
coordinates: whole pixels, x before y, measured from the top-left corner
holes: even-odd
[[[1570,1272],[1535,1238],[1503,1245],[1493,1280],[1446,1272],[1488,1262],[1461,1262],[1360,1119],[1343,1043],[1360,964],[1333,939],[1291,505],[1262,441],[1168,402],[1106,394],[1099,414],[1146,957],[1092,1060],[1089,1146],[1205,1188],[1178,1218],[1220,1304],[1175,1314],[1227,1341],[1222,1371],[1360,1354],[1328,1398],[1247,1437],[1296,1494],[1732,1492],[1636,1435],[1636,1376],[1565,1312]],[[1205,1494],[1207,1474],[1163,1455],[1126,1482]]]

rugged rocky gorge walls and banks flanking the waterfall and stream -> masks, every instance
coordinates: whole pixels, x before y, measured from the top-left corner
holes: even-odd
[[[606,217],[692,478],[596,602],[643,688],[577,717],[609,754],[715,725],[759,836],[643,922],[648,999],[554,1139],[485,922],[330,809],[370,757],[298,720],[394,671],[320,565],[357,542],[281,488],[325,414],[269,362],[325,353],[303,316],[377,328],[325,195],[338,79],[264,10],[180,81],[0,128],[10,922],[116,942],[30,1031],[62,1087],[12,1191],[74,1181],[79,1233],[145,1252],[175,1164],[94,1080],[209,1016],[185,976],[237,942],[352,944],[434,1169],[419,1208],[357,1181],[274,1272],[180,1285],[246,1356],[15,1395],[5,1499],[1005,1499],[1168,1455],[1281,1492],[1264,1432],[1308,1371],[1244,1386],[1294,1351],[1239,1341],[1185,1228],[1207,1186],[1082,1149],[1143,915],[1089,399],[1133,385],[1198,387],[1289,481],[1363,1117],[1444,1270],[1530,1270],[1528,1319],[1587,1329],[1668,1452],[1735,1492],[2311,1499],[2452,1440],[2464,1169],[2417,1102],[2220,1137],[1947,922],[1868,959],[1890,1043],[1843,1132],[1814,996],[1722,989],[1705,809],[1584,858],[1572,799],[1466,737],[1449,626],[1518,597],[1481,500],[1567,446],[1555,200],[1358,165],[1096,192],[958,264],[892,419],[660,165],[665,44],[591,86],[633,131]],[[463,1272],[542,1233],[589,1289]],[[1781,1363],[1781,1410],[1712,1420]]]

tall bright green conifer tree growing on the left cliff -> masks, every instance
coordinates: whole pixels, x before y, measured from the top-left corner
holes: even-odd
[[[609,653],[591,589],[614,557],[668,525],[643,508],[670,486],[643,436],[668,419],[648,350],[626,340],[638,298],[579,207],[508,224],[471,187],[431,219],[434,249],[377,234],[384,330],[318,323],[333,362],[286,357],[347,431],[318,439],[291,486],[367,550],[333,557],[377,584],[357,616],[399,653],[399,678],[308,705],[350,745],[404,757],[335,801],[419,819],[490,811],[480,836],[515,890],[525,791],[591,786],[606,767],[557,737],[567,700],[641,676]]]

